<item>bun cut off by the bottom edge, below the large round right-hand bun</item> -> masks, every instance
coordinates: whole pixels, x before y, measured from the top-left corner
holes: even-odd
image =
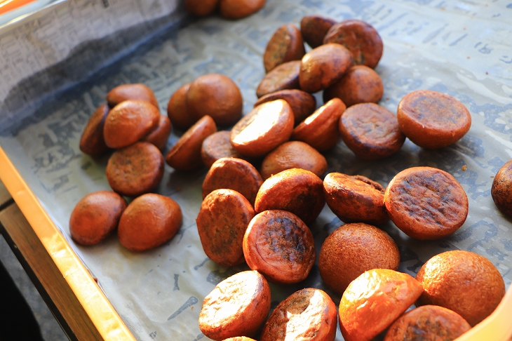
[[[389,327],[384,341],[451,341],[471,328],[456,312],[424,305],[400,316]]]

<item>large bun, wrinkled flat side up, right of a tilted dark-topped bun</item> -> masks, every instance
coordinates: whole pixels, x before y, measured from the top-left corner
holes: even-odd
[[[468,216],[468,197],[450,173],[431,167],[402,170],[384,193],[389,218],[407,236],[440,239],[457,231]]]

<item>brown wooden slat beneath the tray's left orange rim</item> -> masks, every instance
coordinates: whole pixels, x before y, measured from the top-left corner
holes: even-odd
[[[15,245],[22,259],[25,260],[29,271],[33,272],[48,295],[50,310],[55,314],[55,310],[51,309],[51,305],[55,305],[55,308],[58,309],[55,317],[59,321],[60,316],[58,315],[61,315],[65,324],[69,326],[67,328],[60,321],[68,337],[73,340],[103,340],[58,267],[48,255],[46,248],[15,203],[0,212],[0,223],[4,228],[3,234],[6,239],[11,239],[10,242]],[[43,296],[42,293],[41,296]],[[48,304],[48,300],[46,303]]]

